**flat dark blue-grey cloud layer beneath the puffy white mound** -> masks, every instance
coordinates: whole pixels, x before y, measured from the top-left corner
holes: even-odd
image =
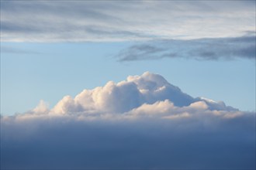
[[[1,122],[2,169],[255,166],[254,116],[182,121]]]

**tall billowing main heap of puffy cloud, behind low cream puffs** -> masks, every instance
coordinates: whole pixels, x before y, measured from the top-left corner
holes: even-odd
[[[71,104],[69,111],[97,110],[103,112],[123,113],[142,104],[154,104],[159,100],[171,100],[177,106],[192,103],[193,99],[164,79],[164,77],[146,72],[142,76],[128,76],[119,83],[109,81],[104,87],[83,90],[74,100],[64,97],[53,111],[58,113],[62,104]],[[66,106],[64,106],[66,107]]]

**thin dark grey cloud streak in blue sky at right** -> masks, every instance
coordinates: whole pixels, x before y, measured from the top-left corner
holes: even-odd
[[[255,59],[255,36],[177,40],[165,39],[137,43],[121,50],[119,61],[185,58],[199,60]]]

